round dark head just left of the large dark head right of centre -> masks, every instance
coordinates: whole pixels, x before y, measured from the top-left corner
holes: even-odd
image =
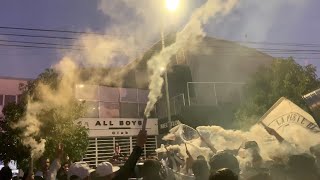
[[[209,167],[205,160],[195,160],[192,164],[192,172],[196,180],[208,179]]]

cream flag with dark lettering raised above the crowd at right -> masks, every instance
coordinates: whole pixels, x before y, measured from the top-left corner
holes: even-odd
[[[309,113],[284,97],[262,116],[261,122],[280,135],[290,126],[300,126],[314,133],[320,132],[319,126]]]

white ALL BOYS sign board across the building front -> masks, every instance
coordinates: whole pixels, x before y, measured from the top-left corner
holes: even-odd
[[[89,129],[89,137],[136,136],[142,128],[142,119],[134,118],[80,118],[77,123]],[[159,135],[158,119],[148,119],[148,135]]]

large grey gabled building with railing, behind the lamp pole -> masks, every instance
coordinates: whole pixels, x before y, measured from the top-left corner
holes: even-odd
[[[164,40],[167,46],[174,41],[174,35]],[[146,62],[159,51],[161,42],[139,59],[140,69],[145,69]],[[273,59],[256,49],[212,37],[199,39],[196,45],[185,45],[172,57],[168,69],[172,122],[176,124],[176,120],[180,120],[194,127],[233,128],[234,111],[244,101],[244,85],[261,66],[268,66]],[[160,134],[168,132],[166,104],[165,96],[157,103]]]

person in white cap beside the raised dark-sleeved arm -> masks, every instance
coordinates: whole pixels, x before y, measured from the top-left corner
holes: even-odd
[[[119,169],[118,166],[113,166],[110,162],[103,162],[98,164],[95,177],[97,180],[111,180]]]

